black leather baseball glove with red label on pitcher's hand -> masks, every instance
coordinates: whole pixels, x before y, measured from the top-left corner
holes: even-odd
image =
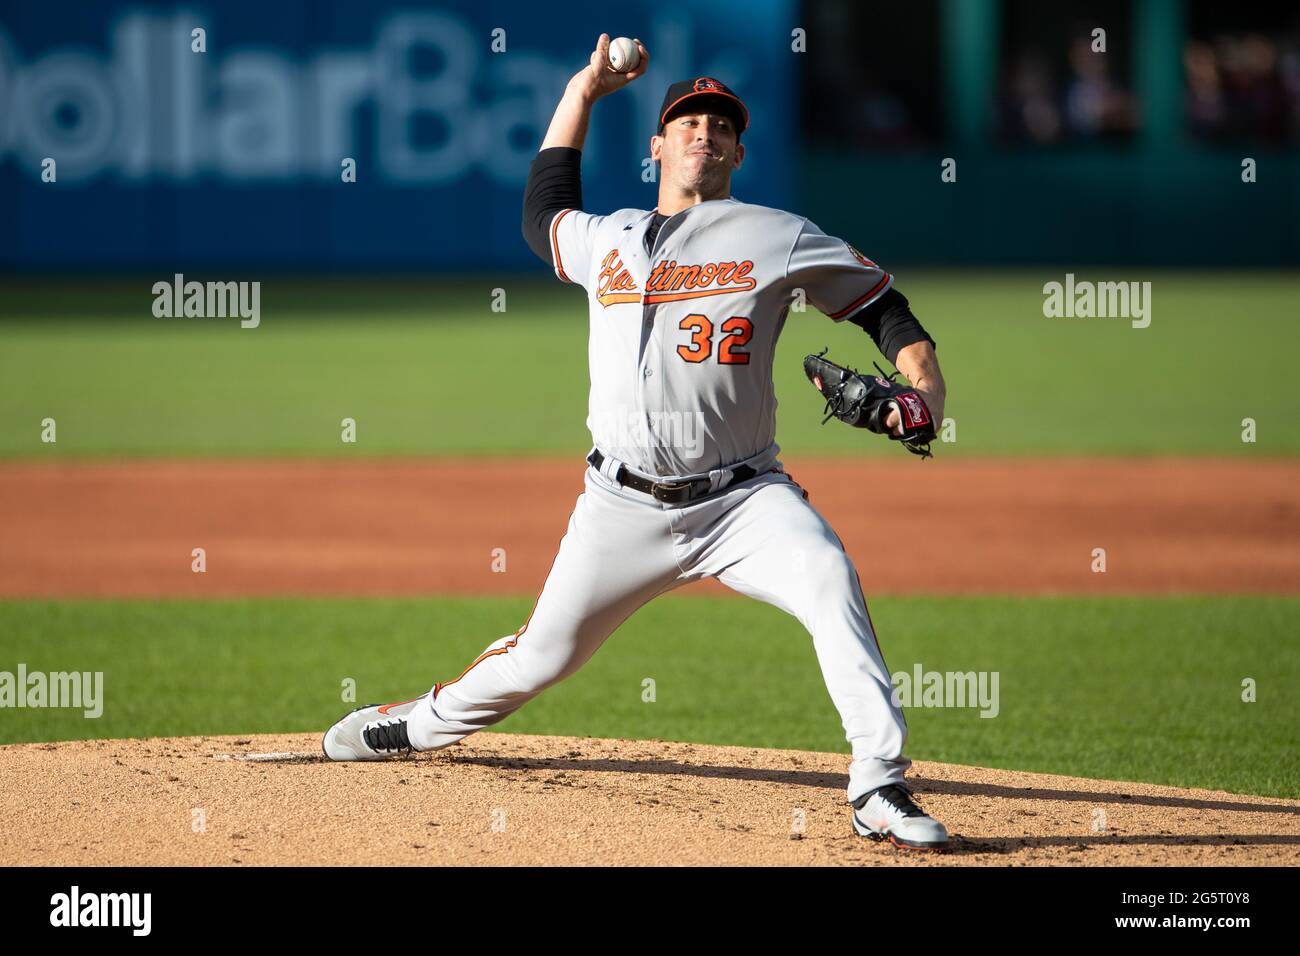
[[[824,425],[832,418],[848,421],[854,428],[866,428],[876,434],[888,434],[914,455],[933,458],[930,442],[935,440],[935,421],[920,393],[910,385],[894,382],[898,376],[884,373],[876,365],[878,376],[863,376],[855,369],[837,365],[823,358],[828,349],[803,359],[803,373],[826,398]],[[898,410],[902,434],[885,428],[890,408]]]

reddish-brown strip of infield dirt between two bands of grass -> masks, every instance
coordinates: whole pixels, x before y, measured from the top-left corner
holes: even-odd
[[[786,467],[872,568],[871,594],[1295,593],[1300,581],[1300,460],[900,454]],[[0,464],[0,596],[532,596],[581,490],[569,458],[12,462]],[[924,574],[879,562],[885,545],[920,548]]]

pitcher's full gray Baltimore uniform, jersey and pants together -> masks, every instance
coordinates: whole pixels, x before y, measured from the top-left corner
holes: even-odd
[[[842,239],[779,209],[716,199],[668,219],[650,254],[644,209],[551,220],[555,274],[586,289],[586,470],[532,615],[407,717],[419,750],[462,740],[581,667],[638,607],[703,578],[793,614],[812,636],[853,750],[848,797],[901,783],[911,761],[866,596],[838,536],[776,466],[772,355],[794,302],[836,320],[890,276]],[[798,290],[802,290],[802,297]],[[667,503],[612,480],[611,462],[660,479],[718,475],[716,493]],[[731,466],[754,476],[732,481]]]

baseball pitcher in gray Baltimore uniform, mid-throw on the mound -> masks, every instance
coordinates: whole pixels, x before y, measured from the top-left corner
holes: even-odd
[[[618,73],[601,35],[566,88],[524,195],[525,239],[562,282],[582,287],[590,323],[593,447],[542,593],[519,631],[458,676],[346,715],[325,734],[325,754],[380,760],[447,747],[573,674],[651,598],[716,578],[794,615],[812,636],[853,749],[854,830],[941,848],[948,832],[905,782],[907,723],[858,575],[777,460],[772,386],[781,326],[792,304],[809,302],[862,326],[910,382],[809,356],[829,415],[928,451],[945,399],[933,339],[893,277],[848,242],[732,196],[750,117],[715,78],[668,87],[650,138],[658,206],[584,209],[590,112],[645,74],[650,57],[636,47],[640,62]]]

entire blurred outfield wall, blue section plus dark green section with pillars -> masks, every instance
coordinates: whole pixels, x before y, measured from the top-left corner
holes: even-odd
[[[734,195],[807,215],[894,268],[1300,264],[1300,152],[1187,139],[1178,0],[1134,8],[1132,142],[1037,150],[997,142],[1002,5],[942,0],[944,143],[898,153],[802,148],[800,68],[819,38],[792,51],[800,9],[6,0],[0,273],[541,274],[519,232],[528,165],[602,31],[640,36],[653,62],[597,104],[592,211],[654,206],[644,164],[663,92],[716,75],[751,111]],[[57,182],[42,182],[46,157]],[[957,182],[940,177],[945,157]]]

